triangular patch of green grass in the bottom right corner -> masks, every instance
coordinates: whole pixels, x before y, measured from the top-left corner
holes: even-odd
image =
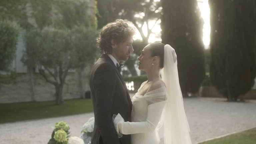
[[[256,128],[200,144],[256,144]]]

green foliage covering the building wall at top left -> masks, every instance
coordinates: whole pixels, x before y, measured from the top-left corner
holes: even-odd
[[[97,28],[95,6],[96,3],[84,0],[3,0],[0,3],[0,20],[15,20],[24,29],[33,26],[71,29],[76,25]],[[34,19],[35,23],[29,23],[28,18]]]

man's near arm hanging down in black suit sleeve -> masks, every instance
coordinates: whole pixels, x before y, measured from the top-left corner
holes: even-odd
[[[116,87],[115,73],[112,65],[104,63],[97,68],[94,75],[95,124],[99,127],[104,144],[120,143],[112,119],[112,103]]]

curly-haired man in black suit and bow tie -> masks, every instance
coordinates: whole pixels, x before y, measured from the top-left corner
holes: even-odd
[[[120,113],[131,121],[132,102],[120,74],[119,62],[127,61],[133,52],[134,28],[123,20],[104,26],[97,39],[103,53],[92,68],[90,89],[95,116],[91,144],[130,144],[130,135],[118,138],[113,115]]]

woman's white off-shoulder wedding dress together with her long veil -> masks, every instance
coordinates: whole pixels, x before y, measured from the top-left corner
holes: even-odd
[[[117,134],[119,137],[132,134],[131,144],[159,144],[160,138],[164,144],[192,144],[179,84],[177,55],[168,44],[164,46],[161,79],[166,87],[160,84],[142,96],[144,82],[131,98],[132,122],[124,122],[120,114],[113,116]]]

